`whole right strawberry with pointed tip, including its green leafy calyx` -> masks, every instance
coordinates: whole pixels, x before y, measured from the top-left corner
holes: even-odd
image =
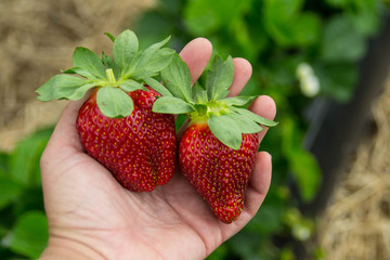
[[[243,108],[253,96],[226,98],[234,76],[232,57],[223,62],[216,56],[206,89],[199,84],[191,89],[190,70],[178,55],[161,76],[172,96],[159,98],[153,110],[191,119],[179,144],[182,173],[216,217],[231,223],[244,208],[261,126],[276,122]]]

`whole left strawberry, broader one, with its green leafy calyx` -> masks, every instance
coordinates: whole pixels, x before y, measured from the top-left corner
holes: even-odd
[[[77,118],[82,145],[125,187],[150,192],[174,172],[174,118],[152,112],[159,93],[170,94],[153,77],[170,63],[174,51],[161,48],[168,39],[139,51],[138,38],[130,30],[116,39],[108,37],[114,42],[114,60],[76,48],[74,67],[40,87],[38,99],[78,100],[96,87]]]

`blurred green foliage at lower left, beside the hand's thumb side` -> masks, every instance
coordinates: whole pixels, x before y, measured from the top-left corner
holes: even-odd
[[[0,259],[37,259],[48,243],[39,159],[52,128],[0,153]]]

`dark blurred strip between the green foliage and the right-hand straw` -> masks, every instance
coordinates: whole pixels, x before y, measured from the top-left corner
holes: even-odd
[[[346,104],[327,102],[320,112],[321,116],[313,118],[308,132],[309,139],[313,141],[307,143],[307,147],[317,158],[323,182],[316,198],[304,206],[306,210],[317,213],[324,209],[340,171],[351,162],[360,141],[367,131],[377,128],[373,125],[372,106],[384,91],[389,75],[389,47],[390,21],[387,20],[361,62],[359,84],[351,101]]]

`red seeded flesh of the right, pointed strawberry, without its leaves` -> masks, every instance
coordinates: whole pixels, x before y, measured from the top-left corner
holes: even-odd
[[[179,164],[184,177],[225,223],[236,219],[244,208],[259,134],[243,134],[235,151],[221,143],[207,123],[188,127],[180,141]]]

